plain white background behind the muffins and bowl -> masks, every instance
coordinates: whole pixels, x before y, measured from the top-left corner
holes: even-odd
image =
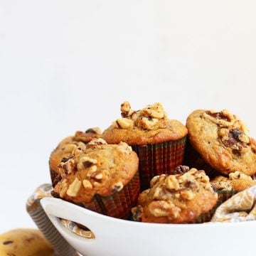
[[[0,0],[0,233],[34,227],[26,199],[76,130],[119,105],[186,122],[229,109],[256,137],[256,2]]]

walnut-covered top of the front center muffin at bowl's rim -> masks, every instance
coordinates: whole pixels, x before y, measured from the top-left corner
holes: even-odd
[[[205,172],[187,166],[178,169],[179,174],[151,179],[150,188],[139,195],[138,206],[132,209],[135,220],[189,223],[215,206],[218,196]]]

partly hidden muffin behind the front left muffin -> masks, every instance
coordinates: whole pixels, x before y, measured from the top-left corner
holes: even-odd
[[[99,138],[101,134],[102,132],[99,128],[90,128],[85,132],[75,132],[75,136],[67,137],[58,144],[49,159],[50,178],[53,186],[55,186],[55,183],[58,181],[58,178],[56,181],[55,178],[59,174],[58,165],[60,164],[61,159],[68,158],[72,154],[73,150],[77,148],[85,149],[85,144],[90,142],[92,139]]]

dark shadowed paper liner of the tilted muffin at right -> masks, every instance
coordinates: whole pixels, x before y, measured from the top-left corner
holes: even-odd
[[[203,160],[201,155],[196,151],[196,149],[191,146],[189,140],[186,141],[186,150],[184,156],[184,164],[189,166],[190,168],[196,168],[198,170],[203,170],[206,172],[206,175],[210,178],[214,178],[215,176],[221,175],[218,171],[213,169],[210,164],[206,163]]]

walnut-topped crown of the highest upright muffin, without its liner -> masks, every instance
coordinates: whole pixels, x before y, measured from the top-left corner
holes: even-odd
[[[102,134],[111,144],[146,145],[174,141],[186,136],[186,127],[177,120],[167,118],[161,103],[132,110],[129,102],[121,105],[122,118],[118,118]]]

